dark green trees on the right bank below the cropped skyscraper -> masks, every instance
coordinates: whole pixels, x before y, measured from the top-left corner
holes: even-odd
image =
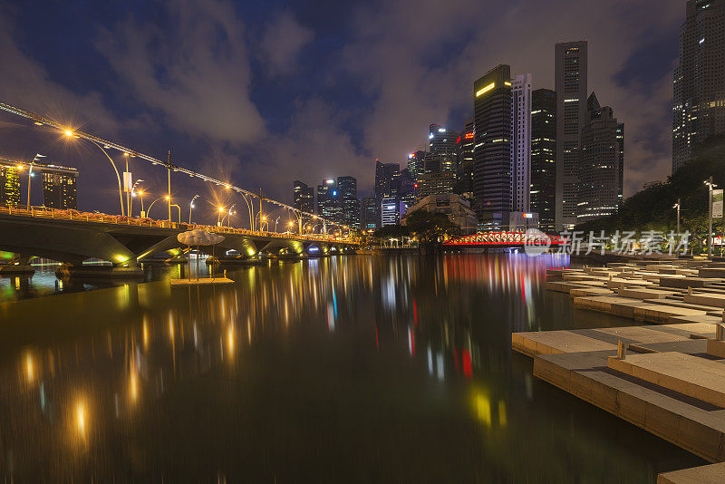
[[[586,233],[594,230],[611,234],[616,230],[668,232],[677,226],[677,210],[672,206],[681,198],[680,231],[690,230],[691,243],[701,245],[707,238],[708,187],[712,177],[719,188],[725,187],[725,136],[714,136],[695,151],[689,164],[678,169],[665,182],[652,182],[624,200],[614,215],[576,226]],[[713,230],[722,230],[722,221],[713,220]]]

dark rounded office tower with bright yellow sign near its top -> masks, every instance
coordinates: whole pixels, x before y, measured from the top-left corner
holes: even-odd
[[[488,229],[508,226],[511,210],[511,69],[498,65],[473,83],[476,141],[473,197],[478,221]]]

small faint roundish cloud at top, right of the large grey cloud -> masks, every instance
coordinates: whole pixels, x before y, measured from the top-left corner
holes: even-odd
[[[270,76],[294,73],[297,56],[312,42],[311,29],[297,22],[288,11],[276,15],[267,25],[259,44],[259,57]]]

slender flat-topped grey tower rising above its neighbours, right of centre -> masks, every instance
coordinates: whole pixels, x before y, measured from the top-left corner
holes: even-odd
[[[556,229],[576,223],[579,137],[586,116],[586,41],[556,44]]]

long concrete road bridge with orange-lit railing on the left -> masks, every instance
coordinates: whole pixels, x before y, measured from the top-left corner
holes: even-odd
[[[101,259],[121,269],[117,274],[138,274],[139,264],[154,254],[179,255],[188,247],[179,243],[177,236],[190,229],[224,237],[214,246],[198,247],[200,252],[224,256],[233,250],[234,258],[240,261],[256,259],[260,254],[344,254],[358,246],[352,237],[280,234],[35,207],[0,207],[0,227],[0,250],[18,255],[19,264],[27,265],[30,257],[45,257],[72,267],[82,266],[88,259]]]

